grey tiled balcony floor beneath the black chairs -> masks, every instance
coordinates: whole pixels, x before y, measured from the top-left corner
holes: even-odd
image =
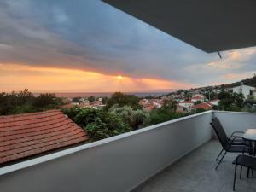
[[[215,171],[215,158],[221,147],[217,140],[206,143],[191,154],[152,177],[136,192],[230,192],[232,191],[234,166],[237,154],[227,154]],[[240,170],[240,168],[239,168]],[[256,173],[254,172],[254,175]],[[246,178],[246,169],[236,180],[236,191],[255,192],[256,178]]]

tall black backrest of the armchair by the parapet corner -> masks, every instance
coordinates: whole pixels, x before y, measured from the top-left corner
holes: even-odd
[[[219,122],[218,118],[212,119],[212,128],[216,132],[219,142],[221,143],[223,148],[227,148],[229,145],[229,138],[227,137],[226,132],[224,131],[223,126]]]

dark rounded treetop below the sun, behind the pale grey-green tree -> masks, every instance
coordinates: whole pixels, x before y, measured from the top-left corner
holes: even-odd
[[[139,98],[133,95],[125,95],[121,92],[114,93],[107,102],[106,108],[111,108],[113,105],[118,104],[119,107],[130,106],[133,109],[141,109]]]

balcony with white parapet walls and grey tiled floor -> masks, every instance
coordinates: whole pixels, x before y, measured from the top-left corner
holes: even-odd
[[[228,134],[256,125],[256,113],[208,111],[0,168],[1,192],[232,191],[236,154],[214,170],[220,144],[209,123]],[[244,176],[245,174],[243,174]],[[255,178],[236,191],[255,191]]]

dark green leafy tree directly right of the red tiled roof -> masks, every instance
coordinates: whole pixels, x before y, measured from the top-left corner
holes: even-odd
[[[97,141],[131,131],[131,127],[118,115],[108,113],[102,109],[72,108],[63,112],[87,131],[91,141]]]

